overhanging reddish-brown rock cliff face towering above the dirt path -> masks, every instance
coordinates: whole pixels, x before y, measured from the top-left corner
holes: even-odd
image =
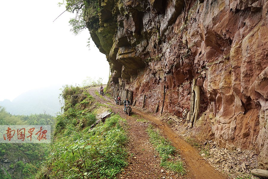
[[[182,115],[200,87],[192,136],[260,152],[268,169],[267,0],[99,0],[87,15],[112,86],[139,107]],[[89,11],[88,11],[89,12]]]

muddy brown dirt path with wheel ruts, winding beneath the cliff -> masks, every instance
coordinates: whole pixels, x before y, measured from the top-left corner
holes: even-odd
[[[173,172],[166,171],[159,166],[160,158],[155,152],[154,147],[149,142],[149,137],[146,133],[147,123],[137,122],[136,116],[141,116],[155,126],[172,142],[173,146],[180,149],[181,158],[186,164],[186,175],[180,178],[187,179],[225,179],[227,178],[222,173],[216,171],[212,166],[203,160],[198,152],[191,147],[186,141],[177,136],[171,128],[169,128],[160,119],[150,116],[140,110],[132,109],[131,116],[123,112],[123,105],[116,105],[108,96],[99,96],[96,94],[99,87],[89,88],[89,93],[100,103],[109,106],[114,112],[121,117],[127,119],[129,125],[129,144],[128,149],[132,152],[129,159],[129,166],[121,173],[119,178],[124,179],[152,179],[152,178],[178,178]],[[161,171],[162,169],[162,171]],[[163,171],[164,170],[164,171]]]

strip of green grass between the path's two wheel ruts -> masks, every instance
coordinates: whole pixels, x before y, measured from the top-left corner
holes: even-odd
[[[178,159],[180,155],[177,153],[176,148],[171,145],[171,142],[161,136],[160,131],[153,128],[152,125],[147,128],[147,133],[150,137],[150,142],[161,157],[160,166],[180,175],[186,174],[183,162]]]

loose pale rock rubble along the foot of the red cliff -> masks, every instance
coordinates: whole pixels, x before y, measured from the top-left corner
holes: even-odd
[[[163,117],[162,121],[170,123],[170,117]],[[173,121],[173,120],[172,120]],[[189,125],[183,124],[183,121],[174,122],[169,124],[170,127],[177,133],[186,139],[190,137],[191,129]],[[183,131],[183,133],[182,133]],[[235,179],[249,176],[252,169],[258,168],[258,155],[255,151],[241,150],[228,150],[226,148],[219,148],[213,141],[205,141],[199,144],[200,156],[206,160],[216,170],[225,173],[229,178]],[[201,151],[206,147],[206,151]],[[258,179],[256,176],[251,176],[253,179]]]

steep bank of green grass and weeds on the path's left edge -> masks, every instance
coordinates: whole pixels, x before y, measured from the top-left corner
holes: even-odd
[[[127,165],[125,120],[112,114],[91,128],[100,105],[86,88],[66,86],[62,96],[65,112],[56,117],[49,155],[29,178],[115,178]]]

